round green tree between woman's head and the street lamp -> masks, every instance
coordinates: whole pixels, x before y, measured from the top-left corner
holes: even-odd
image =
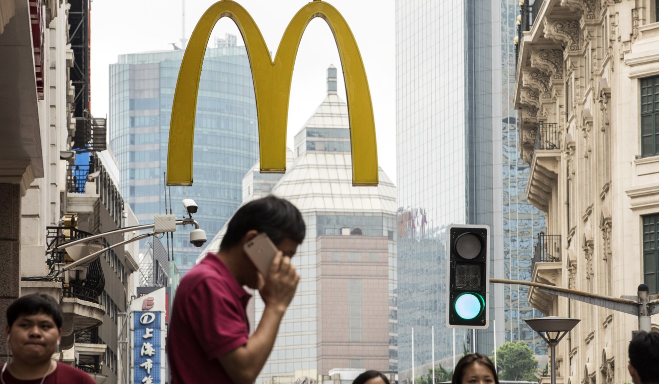
[[[538,360],[523,341],[501,344],[496,350],[500,380],[537,381]]]

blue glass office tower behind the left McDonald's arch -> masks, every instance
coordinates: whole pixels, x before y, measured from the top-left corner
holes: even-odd
[[[216,42],[221,47],[206,49],[204,59],[194,124],[194,184],[171,187],[166,201],[180,218],[185,213],[181,200],[194,199],[199,206],[194,219],[210,238],[241,204],[243,176],[258,159],[249,60],[231,36],[229,43],[222,41]],[[134,53],[120,55],[110,67],[110,146],[121,170],[122,195],[140,223],[165,213],[163,173],[182,58],[181,50]],[[188,241],[190,230],[173,234],[174,261],[182,274],[199,254]]]

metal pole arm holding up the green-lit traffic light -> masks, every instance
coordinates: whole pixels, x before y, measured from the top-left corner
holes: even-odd
[[[608,308],[610,310],[625,312],[625,314],[635,315],[639,318],[639,331],[650,331],[650,315],[659,314],[659,295],[650,296],[648,286],[639,285],[637,296],[622,296],[615,298],[584,292],[570,288],[561,288],[554,285],[535,283],[533,281],[509,280],[509,279],[490,279],[494,284],[518,284],[528,287],[538,288],[540,292],[555,294],[556,296],[566,297],[572,300],[578,300],[588,304]],[[650,301],[652,300],[652,301]]]

